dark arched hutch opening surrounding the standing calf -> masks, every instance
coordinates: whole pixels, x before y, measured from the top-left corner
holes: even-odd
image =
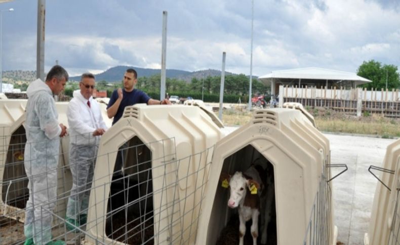
[[[274,169],[273,165],[251,144],[238,150],[232,155],[225,158],[222,173],[235,173],[240,171],[245,173],[251,165],[254,165],[260,172],[262,185],[260,188],[261,193],[256,193],[264,197],[263,203],[260,204],[260,217],[259,227],[263,227],[265,223],[268,223],[266,229],[267,244],[276,243],[276,211],[275,211],[275,187],[274,187]],[[227,207],[227,200],[229,199],[229,189],[223,190],[222,181],[219,185],[220,191],[216,194],[214,199],[213,211],[211,217],[214,220],[224,220],[213,226],[212,232],[220,231],[218,239],[215,244],[238,244],[239,236],[237,232],[239,230],[239,217],[237,209],[230,209]],[[270,193],[268,193],[270,192]],[[250,192],[247,195],[252,195]],[[257,202],[257,201],[256,201]],[[254,203],[252,203],[254,205]],[[222,212],[220,212],[222,211]],[[253,238],[251,235],[250,225],[252,221],[247,222],[247,232],[245,233],[245,244],[253,244]],[[235,234],[235,235],[232,235]],[[259,232],[258,243],[260,243],[262,232]]]

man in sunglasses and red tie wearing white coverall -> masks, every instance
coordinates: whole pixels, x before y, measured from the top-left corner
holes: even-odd
[[[100,106],[92,97],[94,88],[95,76],[84,73],[79,90],[73,91],[73,99],[67,110],[72,188],[68,198],[66,227],[74,231],[77,231],[75,227],[86,224],[98,144],[100,135],[107,129]]]

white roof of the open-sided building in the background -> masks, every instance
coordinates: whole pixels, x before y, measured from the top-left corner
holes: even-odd
[[[352,72],[344,72],[344,71],[336,71],[329,70],[323,68],[316,67],[308,67],[308,68],[299,68],[299,69],[291,69],[291,70],[280,70],[280,71],[272,71],[269,74],[260,76],[258,79],[263,81],[266,85],[270,85],[272,80],[333,80],[333,81],[348,81],[354,82],[353,84],[359,85],[367,82],[372,82],[364,77],[357,76],[357,74]]]

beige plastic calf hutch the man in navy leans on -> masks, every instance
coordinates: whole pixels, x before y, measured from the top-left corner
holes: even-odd
[[[199,107],[127,107],[101,137],[84,242],[193,243],[223,136]]]

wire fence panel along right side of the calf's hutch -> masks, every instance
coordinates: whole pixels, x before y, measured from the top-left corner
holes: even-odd
[[[324,169],[304,235],[304,245],[328,245],[332,240],[332,191],[326,178],[329,169],[327,167]]]

